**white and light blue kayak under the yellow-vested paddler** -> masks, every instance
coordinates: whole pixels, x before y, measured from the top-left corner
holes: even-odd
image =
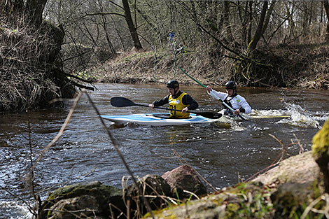
[[[186,125],[194,123],[216,122],[218,119],[209,119],[195,113],[190,113],[190,118],[173,119],[169,118],[169,113],[141,113],[130,115],[101,115],[105,120],[110,120],[116,125],[123,125],[127,122],[134,122],[139,125]]]

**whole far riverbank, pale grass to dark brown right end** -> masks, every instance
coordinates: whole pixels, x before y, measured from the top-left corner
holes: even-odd
[[[329,45],[299,45],[258,51],[253,58],[267,65],[251,75],[237,69],[234,59],[216,57],[200,48],[176,56],[170,50],[120,53],[115,59],[91,69],[93,80],[108,83],[165,83],[176,79],[183,85],[224,85],[228,80],[239,86],[328,89]],[[280,78],[280,79],[278,79]]]

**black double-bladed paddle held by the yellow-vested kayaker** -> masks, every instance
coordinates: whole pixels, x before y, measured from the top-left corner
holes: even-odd
[[[125,107],[125,106],[146,106],[148,107],[148,105],[146,104],[136,104],[133,101],[131,101],[130,99],[127,99],[125,97],[112,97],[111,98],[111,105],[112,106],[116,106],[116,107]],[[165,109],[168,111],[179,111],[176,109],[172,109],[172,108],[162,108],[159,106],[155,106],[154,108],[160,108],[160,109]],[[181,111],[179,111],[181,112]],[[215,113],[215,112],[197,112],[197,111],[188,111],[188,113],[195,113],[196,115],[202,115],[205,118],[209,118],[209,119],[218,119],[222,117],[221,113]]]

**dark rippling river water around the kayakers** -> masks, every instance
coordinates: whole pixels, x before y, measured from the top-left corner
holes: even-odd
[[[143,106],[116,108],[111,97],[148,104],[168,94],[162,85],[96,84],[88,92],[104,115],[165,112]],[[213,87],[223,90],[223,87]],[[216,99],[200,86],[182,86],[200,104],[198,110],[221,111]],[[212,188],[235,185],[269,167],[281,157],[311,150],[311,139],[328,119],[328,90],[286,90],[241,87],[239,94],[252,106],[247,122],[221,118],[207,125],[151,127],[128,124],[109,127],[134,176],[162,175],[190,164]],[[30,218],[31,192],[27,173],[32,160],[61,129],[72,103],[44,111],[0,115],[0,218]],[[270,118],[269,118],[270,117]],[[281,141],[281,143],[279,142]],[[128,176],[87,96],[78,102],[59,141],[36,164],[35,191],[45,199],[59,186],[101,181],[121,187]]]

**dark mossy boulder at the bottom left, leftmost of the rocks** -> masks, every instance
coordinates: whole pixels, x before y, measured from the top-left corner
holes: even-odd
[[[118,216],[125,211],[122,190],[95,181],[66,185],[51,192],[43,202],[39,218],[85,218],[110,214]],[[115,206],[110,209],[110,204]]]

